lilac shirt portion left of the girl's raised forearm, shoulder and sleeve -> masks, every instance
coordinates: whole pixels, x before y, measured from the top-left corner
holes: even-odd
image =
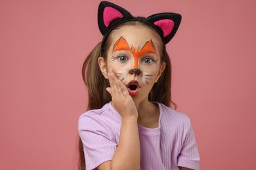
[[[86,168],[95,169],[112,160],[119,140],[119,114],[111,103],[101,109],[89,110],[79,117],[78,133],[83,143]]]

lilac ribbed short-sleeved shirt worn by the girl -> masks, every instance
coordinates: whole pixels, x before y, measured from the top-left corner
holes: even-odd
[[[199,169],[200,156],[196,139],[186,114],[158,103],[159,126],[139,126],[140,169]],[[86,169],[96,169],[112,160],[119,143],[121,116],[108,103],[79,117],[78,131],[83,142]]]

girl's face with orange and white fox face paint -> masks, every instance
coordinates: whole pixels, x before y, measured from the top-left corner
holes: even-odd
[[[147,98],[165,69],[160,36],[143,25],[125,25],[112,31],[109,38],[106,61],[98,59],[103,75],[108,78],[109,69],[113,69],[132,97]]]

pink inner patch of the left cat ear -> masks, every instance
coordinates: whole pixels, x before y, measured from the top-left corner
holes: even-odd
[[[123,14],[112,7],[106,7],[103,11],[103,21],[106,27],[116,18],[123,18]]]

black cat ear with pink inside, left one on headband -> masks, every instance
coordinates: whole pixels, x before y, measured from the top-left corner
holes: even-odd
[[[102,1],[98,7],[98,27],[102,35],[106,35],[117,25],[133,19],[133,16],[125,9]]]

